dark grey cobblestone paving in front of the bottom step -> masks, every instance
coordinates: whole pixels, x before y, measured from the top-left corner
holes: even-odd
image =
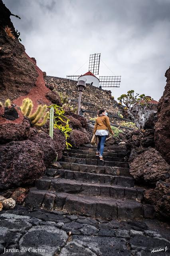
[[[168,224],[158,220],[108,222],[23,206],[0,213],[0,255],[6,256],[168,256],[169,237]]]

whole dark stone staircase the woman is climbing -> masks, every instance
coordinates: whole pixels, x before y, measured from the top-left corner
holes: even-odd
[[[25,204],[30,208],[63,210],[98,219],[153,218],[154,208],[142,204],[143,188],[134,187],[125,146],[108,146],[100,161],[96,147],[65,152],[62,169],[47,169],[30,188]]]

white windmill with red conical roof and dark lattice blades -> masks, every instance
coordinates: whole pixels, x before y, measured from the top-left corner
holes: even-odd
[[[87,79],[86,81],[87,84],[92,84],[93,86],[96,86],[96,87],[100,87],[100,88],[120,87],[121,76],[99,76],[99,78],[97,78],[96,75],[99,75],[100,61],[101,61],[100,53],[91,54],[89,58],[89,71],[83,75],[67,76],[67,79],[77,81],[79,77],[84,76]]]

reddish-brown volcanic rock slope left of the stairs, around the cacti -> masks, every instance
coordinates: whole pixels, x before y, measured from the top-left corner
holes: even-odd
[[[49,137],[49,122],[41,128],[32,127],[20,110],[22,100],[27,97],[33,102],[33,111],[38,104],[61,106],[61,100],[57,92],[51,92],[45,86],[45,72],[38,68],[35,58],[26,54],[10,15],[10,10],[0,0],[0,101],[4,103],[10,98],[12,103],[8,108],[0,106],[0,190],[31,184],[44,174],[45,168],[56,156],[58,160],[62,158],[65,149],[63,133],[54,130],[52,140]],[[6,26],[11,29],[13,38],[4,30]],[[69,113],[73,144],[89,142],[87,135],[79,141],[80,134],[86,133],[85,118],[71,115]]]

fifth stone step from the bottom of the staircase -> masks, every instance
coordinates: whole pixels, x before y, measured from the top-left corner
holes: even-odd
[[[127,162],[109,162],[109,161],[101,161],[98,159],[89,159],[89,158],[74,158],[69,156],[63,156],[61,159],[63,162],[76,163],[76,164],[88,164],[88,165],[97,165],[97,166],[117,166],[123,168],[129,168]]]

